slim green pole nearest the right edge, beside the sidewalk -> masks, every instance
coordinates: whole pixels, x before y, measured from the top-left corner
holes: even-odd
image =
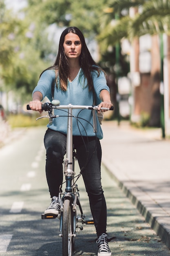
[[[163,84],[163,34],[160,35],[160,55],[161,55],[161,74],[160,74],[160,93],[161,93],[161,110],[160,123],[162,138],[165,138],[165,113],[164,113],[164,84]]]

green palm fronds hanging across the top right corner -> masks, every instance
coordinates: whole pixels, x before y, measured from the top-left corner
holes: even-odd
[[[131,7],[140,10],[132,17],[129,15]],[[115,45],[122,38],[131,41],[132,38],[144,34],[170,34],[170,1],[110,0],[101,20],[102,30],[97,38],[102,51],[106,51],[109,45]]]

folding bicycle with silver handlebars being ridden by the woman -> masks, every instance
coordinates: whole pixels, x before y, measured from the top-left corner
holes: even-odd
[[[29,105],[27,105],[27,110],[29,110]],[[66,188],[65,192],[61,191],[59,193],[60,201],[60,212],[58,216],[55,214],[42,214],[42,219],[60,219],[60,237],[62,237],[62,256],[72,256],[73,249],[75,246],[75,236],[76,232],[83,230],[82,226],[79,226],[79,222],[86,225],[94,225],[94,220],[84,220],[86,217],[83,214],[82,207],[79,200],[79,189],[77,184],[75,184],[75,160],[76,160],[76,151],[73,148],[73,126],[72,126],[72,110],[73,109],[88,109],[88,110],[97,110],[97,106],[77,106],[77,105],[62,105],[60,106],[60,101],[53,100],[51,103],[42,104],[42,110],[48,111],[48,115],[38,117],[38,119],[43,117],[49,118],[49,123],[53,118],[59,117],[53,115],[53,109],[66,109],[68,110],[68,123],[67,123],[67,140],[66,140],[66,158],[64,160],[64,175],[66,179]],[[109,110],[108,108],[101,108],[103,110]],[[110,108],[113,110],[113,107]],[[76,118],[76,117],[75,117]],[[78,175],[79,178],[79,175]],[[77,179],[78,179],[77,178]],[[76,180],[77,181],[77,180]],[[77,206],[79,207],[80,216],[77,213]]]

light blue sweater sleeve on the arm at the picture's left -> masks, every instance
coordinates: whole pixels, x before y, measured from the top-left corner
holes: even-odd
[[[42,93],[42,100],[44,97],[48,97],[49,100],[52,100],[51,96],[51,87],[52,84],[55,82],[55,70],[46,70],[40,76],[37,86],[33,90],[34,92],[41,92]],[[32,94],[33,94],[32,93]]]

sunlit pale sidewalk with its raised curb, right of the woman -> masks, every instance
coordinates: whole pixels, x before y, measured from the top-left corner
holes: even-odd
[[[151,228],[170,248],[170,141],[161,129],[142,131],[105,121],[102,162]]]

